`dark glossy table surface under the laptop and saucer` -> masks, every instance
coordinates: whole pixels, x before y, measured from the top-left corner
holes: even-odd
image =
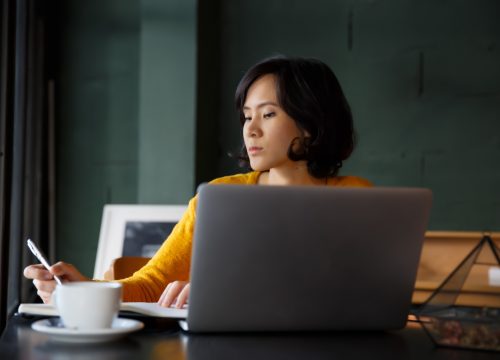
[[[14,315],[0,359],[498,359],[498,352],[435,347],[420,324],[389,332],[188,335],[176,322],[141,318],[145,328],[103,344],[64,344],[31,329],[41,317]]]

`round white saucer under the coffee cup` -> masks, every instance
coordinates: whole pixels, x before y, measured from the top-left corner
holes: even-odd
[[[61,325],[59,318],[38,320],[31,324],[35,331],[47,334],[54,341],[71,343],[98,343],[116,340],[126,334],[140,330],[144,324],[138,320],[117,318],[109,329],[75,330]]]

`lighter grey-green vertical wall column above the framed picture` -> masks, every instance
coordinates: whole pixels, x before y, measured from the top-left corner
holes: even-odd
[[[142,0],[138,203],[184,204],[195,188],[196,1]]]

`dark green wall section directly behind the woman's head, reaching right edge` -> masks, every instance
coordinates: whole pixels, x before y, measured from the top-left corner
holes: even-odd
[[[219,143],[242,72],[281,53],[336,72],[359,143],[342,169],[434,192],[431,229],[500,230],[498,1],[221,1]],[[219,173],[234,171],[219,156]]]

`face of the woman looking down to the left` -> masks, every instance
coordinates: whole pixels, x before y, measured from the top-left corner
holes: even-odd
[[[288,149],[303,134],[278,104],[274,75],[263,75],[250,86],[243,113],[243,139],[252,169],[266,171],[296,165],[288,158]]]

